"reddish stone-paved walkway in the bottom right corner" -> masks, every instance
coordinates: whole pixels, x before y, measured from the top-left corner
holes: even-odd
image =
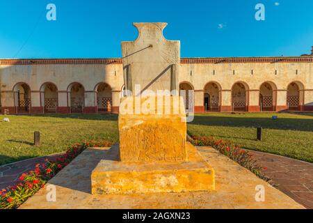
[[[284,194],[313,209],[313,164],[300,160],[250,151],[271,178],[271,184]]]

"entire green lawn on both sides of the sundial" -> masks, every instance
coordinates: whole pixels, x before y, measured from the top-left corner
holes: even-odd
[[[313,162],[313,115],[202,114],[188,124],[188,133],[227,139],[257,151],[276,153]],[[118,141],[118,116],[51,115],[0,116],[0,165],[26,158],[66,151],[74,142],[91,139]],[[256,127],[263,130],[263,141],[256,141]],[[33,132],[40,131],[42,144],[33,146]]]

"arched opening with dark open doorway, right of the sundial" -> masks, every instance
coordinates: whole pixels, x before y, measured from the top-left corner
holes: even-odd
[[[204,108],[205,112],[220,111],[220,84],[209,82],[204,86]]]

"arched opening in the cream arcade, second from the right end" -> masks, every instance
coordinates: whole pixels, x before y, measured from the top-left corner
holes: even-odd
[[[274,112],[277,87],[272,82],[264,82],[259,87],[259,106],[262,112]]]

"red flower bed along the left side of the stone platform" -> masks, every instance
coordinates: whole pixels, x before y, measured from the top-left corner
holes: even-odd
[[[29,197],[38,192],[40,188],[56,176],[61,169],[67,166],[75,157],[88,147],[110,147],[109,141],[96,143],[95,141],[83,144],[74,144],[62,155],[54,160],[46,160],[45,163],[36,164],[35,169],[24,173],[19,177],[18,183],[14,186],[0,190],[0,209],[18,208]]]

